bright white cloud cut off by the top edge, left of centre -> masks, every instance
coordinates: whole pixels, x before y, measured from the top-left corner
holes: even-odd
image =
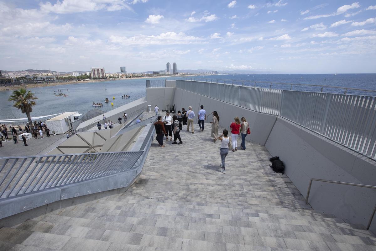
[[[53,12],[58,14],[78,13],[87,11],[99,11],[107,9],[108,11],[117,11],[129,9],[129,5],[121,0],[62,0],[57,1],[54,5],[50,2],[40,3],[41,12]]]

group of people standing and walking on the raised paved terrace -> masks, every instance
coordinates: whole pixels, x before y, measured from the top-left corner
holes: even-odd
[[[204,106],[200,106],[201,110],[198,112],[198,124],[200,128],[200,132],[204,131],[204,122],[207,118],[206,111],[204,110]],[[155,106],[154,109],[156,115],[158,115],[159,108]],[[221,156],[221,172],[226,173],[226,165],[225,160],[226,156],[229,153],[229,148],[231,148],[232,152],[238,151],[238,143],[237,139],[238,136],[241,135],[241,144],[240,149],[246,150],[246,143],[245,139],[248,134],[250,134],[249,123],[247,122],[245,117],[239,119],[238,116],[234,118],[234,121],[230,123],[229,130],[231,135],[229,135],[229,131],[224,129],[221,135],[218,135],[219,129],[219,115],[217,111],[213,111],[211,119],[211,137],[213,138],[213,142],[215,143],[217,140],[221,141],[220,146],[220,156]],[[209,116],[211,115],[209,114]],[[183,143],[180,137],[180,131],[183,129],[183,125],[187,126],[187,131],[191,131],[194,134],[194,111],[192,110],[192,106],[188,107],[186,111],[185,108],[182,108],[182,111],[177,111],[172,117],[170,115],[170,111],[166,111],[165,116],[158,116],[157,122],[154,123],[155,132],[156,132],[156,140],[158,141],[159,147],[165,147],[163,145],[164,137],[166,137],[166,141],[173,141],[172,144],[181,145]],[[174,140],[172,139],[172,135],[174,135]],[[230,136],[230,137],[229,137]],[[169,138],[170,137],[170,138]],[[177,143],[179,140],[179,143]]]

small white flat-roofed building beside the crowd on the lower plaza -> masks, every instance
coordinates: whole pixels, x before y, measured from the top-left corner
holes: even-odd
[[[64,134],[72,129],[72,122],[78,120],[82,113],[71,111],[62,113],[56,117],[46,120],[46,125],[50,129],[50,133],[55,131],[56,134]]]

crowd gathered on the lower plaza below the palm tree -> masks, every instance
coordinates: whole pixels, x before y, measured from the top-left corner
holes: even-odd
[[[8,127],[6,125],[1,125],[0,126],[0,136],[1,136],[0,147],[3,147],[2,140],[9,139],[8,131],[11,132],[12,138],[15,144],[18,143],[18,138],[17,138],[18,135],[22,134],[21,138],[25,146],[27,146],[27,141],[26,141],[27,139],[25,135],[23,135],[24,133],[31,133],[33,137],[36,139],[38,138],[38,135],[40,136],[40,138],[44,138],[43,137],[44,133],[47,135],[47,137],[51,137],[50,129],[41,120],[39,120],[39,122],[34,121],[34,123],[27,122],[26,125],[24,126],[24,129],[20,125],[18,125],[18,126],[10,126],[8,130]]]

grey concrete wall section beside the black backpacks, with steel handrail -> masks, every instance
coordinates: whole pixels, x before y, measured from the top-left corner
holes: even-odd
[[[286,174],[303,196],[311,178],[376,186],[375,161],[281,117],[265,147],[284,161]],[[367,225],[375,201],[372,189],[318,181],[313,181],[309,195],[314,209],[362,225]],[[371,230],[376,231],[376,220]]]

